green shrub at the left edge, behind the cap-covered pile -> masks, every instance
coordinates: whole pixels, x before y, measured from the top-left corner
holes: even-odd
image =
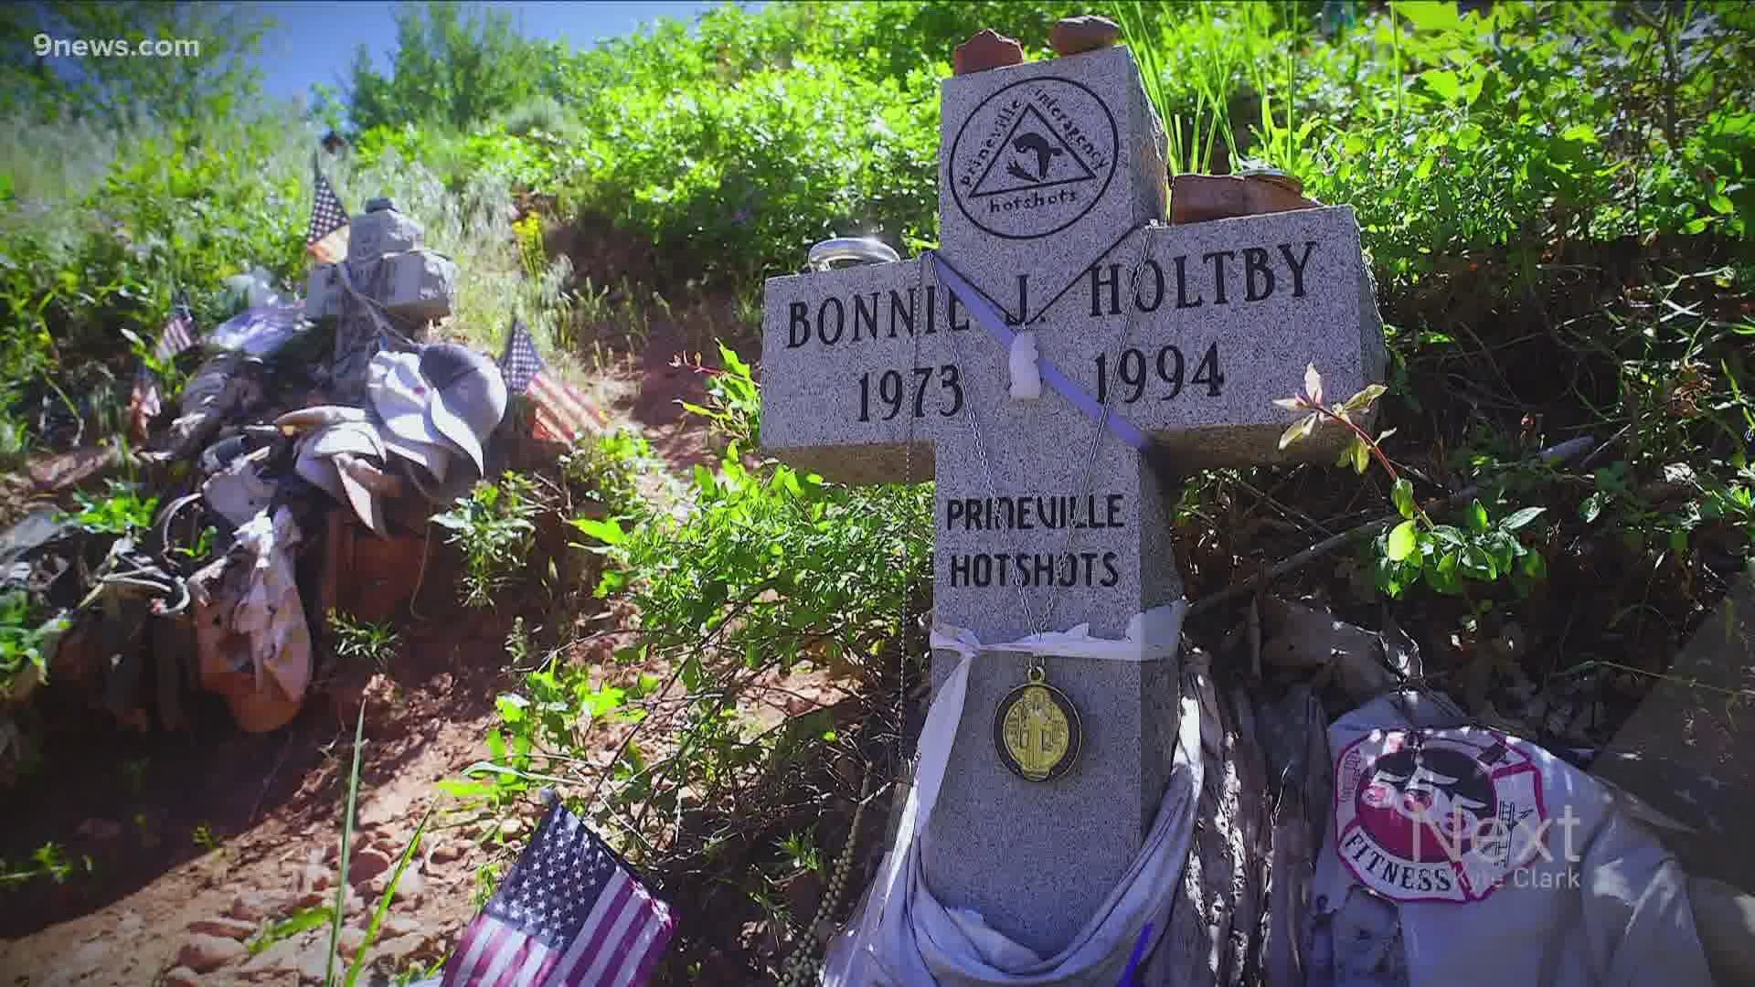
[[[302,270],[309,163],[281,123],[105,133],[12,118],[0,132],[0,413],[23,418],[35,393],[97,413],[90,397],[126,392],[114,381],[177,290],[205,328],[232,314],[225,277]]]

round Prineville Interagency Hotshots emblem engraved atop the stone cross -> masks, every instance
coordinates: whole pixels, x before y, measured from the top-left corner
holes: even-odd
[[[976,227],[1013,241],[1065,230],[1114,177],[1116,128],[1085,86],[1025,79],[981,102],[951,144],[951,190]]]

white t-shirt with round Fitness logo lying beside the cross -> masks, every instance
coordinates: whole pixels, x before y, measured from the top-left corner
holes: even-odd
[[[1687,876],[1597,778],[1379,697],[1329,727],[1311,987],[1711,985]]]

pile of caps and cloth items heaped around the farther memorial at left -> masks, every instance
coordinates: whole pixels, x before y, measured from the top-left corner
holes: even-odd
[[[325,615],[405,604],[428,516],[518,446],[509,397],[541,371],[528,334],[514,328],[504,372],[428,341],[451,260],[388,198],[349,221],[321,176],[318,197],[309,242],[328,253],[311,253],[333,263],[312,267],[304,300],[258,283],[205,334],[174,314],[161,360],[200,357],[176,406],[142,369],[137,444],[105,465],[132,478],[114,490],[156,504],[151,529],[105,532],[51,504],[0,536],[0,599],[37,629],[7,641],[0,783],[28,759],[18,718],[47,680],[142,731],[186,722],[191,690],[223,695],[244,731],[284,725],[321,673]]]

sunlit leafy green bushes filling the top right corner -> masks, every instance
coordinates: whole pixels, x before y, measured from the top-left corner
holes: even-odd
[[[1404,4],[1309,44],[1306,190],[1358,209],[1390,286],[1481,251],[1532,269],[1574,241],[1743,239],[1755,79],[1737,39],[1755,23],[1746,7],[1669,11]],[[1673,47],[1685,68],[1665,65]]]

